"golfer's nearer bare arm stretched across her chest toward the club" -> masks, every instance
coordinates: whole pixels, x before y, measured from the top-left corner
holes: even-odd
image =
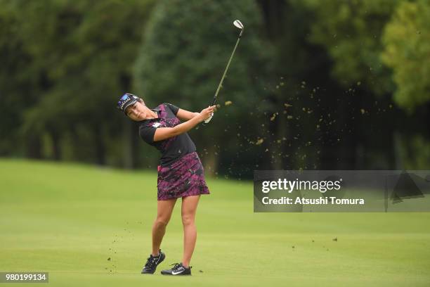
[[[190,129],[193,129],[200,122],[203,122],[211,114],[214,112],[215,106],[211,106],[209,108],[205,108],[202,112],[198,113],[195,117],[190,120],[183,122],[176,127],[159,127],[155,130],[154,141],[162,141],[163,139],[169,139],[172,136],[177,136],[179,134],[183,134],[184,132],[188,132]],[[179,113],[179,111],[178,111]]]

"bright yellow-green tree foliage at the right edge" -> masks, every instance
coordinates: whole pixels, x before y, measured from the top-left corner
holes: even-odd
[[[429,1],[402,2],[384,30],[382,60],[393,69],[393,99],[405,109],[430,100],[429,19]]]

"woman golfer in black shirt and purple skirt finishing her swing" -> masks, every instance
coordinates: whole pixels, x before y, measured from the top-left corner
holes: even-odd
[[[204,181],[203,167],[195,152],[195,145],[187,132],[214,115],[215,106],[200,113],[182,110],[170,103],[148,108],[133,94],[124,94],[118,108],[131,120],[139,122],[139,135],[161,153],[157,179],[157,219],[152,226],[152,253],[142,273],[153,274],[166,255],[159,249],[167,223],[177,198],[182,198],[183,257],[181,263],[163,270],[165,275],[191,275],[190,260],[193,255],[197,231],[195,212],[200,194],[209,194]],[[182,122],[179,120],[184,120]]]

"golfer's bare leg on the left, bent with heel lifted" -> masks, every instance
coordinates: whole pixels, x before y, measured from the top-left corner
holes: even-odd
[[[157,200],[157,219],[155,219],[152,225],[152,256],[158,255],[159,246],[162,243],[164,233],[166,233],[166,227],[169,223],[175,203],[176,198]]]

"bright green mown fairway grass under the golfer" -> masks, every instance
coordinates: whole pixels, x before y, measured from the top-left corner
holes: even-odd
[[[166,260],[143,275],[155,172],[0,159],[0,272],[49,272],[50,286],[430,286],[430,213],[254,213],[252,182],[207,184],[193,276],[159,274],[181,261],[181,200]]]

